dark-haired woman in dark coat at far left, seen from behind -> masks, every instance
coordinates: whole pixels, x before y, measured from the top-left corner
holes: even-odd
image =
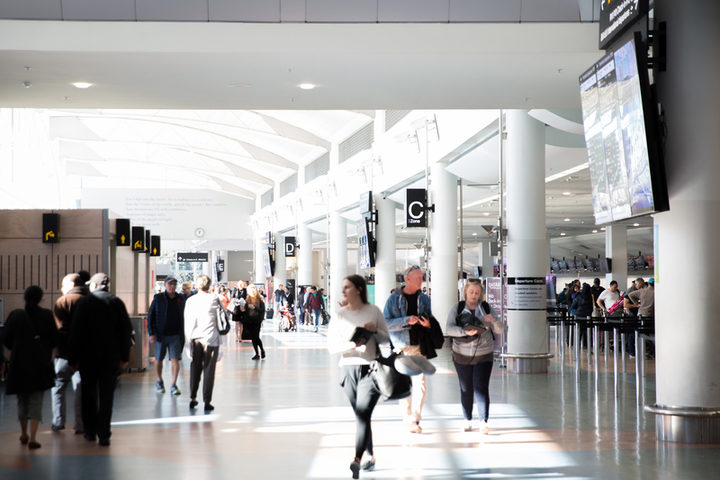
[[[36,285],[25,290],[25,308],[10,312],[2,339],[2,345],[11,350],[5,393],[17,395],[20,443],[31,450],[40,448],[35,436],[44,392],[55,385],[52,350],[58,333],[52,312],[39,306],[42,295]]]

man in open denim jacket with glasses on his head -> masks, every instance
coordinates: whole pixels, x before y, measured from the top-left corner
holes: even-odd
[[[437,356],[435,348],[442,347],[444,338],[437,320],[432,317],[430,297],[420,290],[423,271],[413,265],[403,272],[403,276],[405,285],[392,292],[383,310],[393,347],[408,355],[434,358]],[[422,433],[420,419],[427,390],[425,374],[413,376],[412,383],[412,395],[398,403],[410,432]]]

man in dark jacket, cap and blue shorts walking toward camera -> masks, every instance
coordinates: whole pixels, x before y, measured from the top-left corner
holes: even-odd
[[[170,357],[172,369],[172,385],[170,393],[180,395],[177,387],[177,376],[180,371],[180,358],[185,344],[185,299],[176,293],[177,280],[172,277],[165,279],[165,291],[153,298],[148,311],[148,335],[150,343],[155,344],[155,371],[157,381],[155,390],[165,393],[165,383],[162,379],[162,363],[165,353]]]

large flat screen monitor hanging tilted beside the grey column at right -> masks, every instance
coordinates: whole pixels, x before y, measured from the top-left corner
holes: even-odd
[[[668,209],[643,51],[636,34],[580,76],[597,224]]]

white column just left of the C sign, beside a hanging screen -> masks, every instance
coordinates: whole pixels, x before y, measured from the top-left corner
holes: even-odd
[[[395,288],[395,202],[375,195],[378,211],[377,255],[375,257],[375,305],[382,310]]]

